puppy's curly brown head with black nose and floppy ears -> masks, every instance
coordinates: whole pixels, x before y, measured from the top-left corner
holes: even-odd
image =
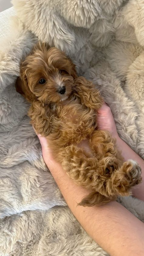
[[[63,52],[39,44],[23,61],[16,89],[29,101],[59,103],[69,98],[76,77],[74,64]]]

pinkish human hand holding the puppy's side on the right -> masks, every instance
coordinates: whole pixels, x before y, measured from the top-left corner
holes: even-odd
[[[118,132],[116,129],[114,117],[111,113],[110,107],[106,103],[98,109],[98,116],[97,116],[97,123],[98,123],[98,130],[107,130],[111,133],[112,137],[118,139]]]

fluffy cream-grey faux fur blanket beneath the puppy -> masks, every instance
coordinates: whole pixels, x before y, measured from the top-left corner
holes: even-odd
[[[17,17],[0,43],[0,255],[106,256],[66,206],[14,85],[38,39],[64,50],[101,91],[120,137],[144,158],[144,3],[12,2]],[[144,222],[144,202],[118,201]]]

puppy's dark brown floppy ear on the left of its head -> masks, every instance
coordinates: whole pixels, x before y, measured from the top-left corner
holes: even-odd
[[[36,100],[36,96],[29,89],[26,73],[21,72],[15,83],[16,91],[22,94],[29,102]]]

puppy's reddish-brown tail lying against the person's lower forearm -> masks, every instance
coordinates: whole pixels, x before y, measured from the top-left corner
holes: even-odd
[[[101,195],[99,192],[94,191],[91,192],[89,195],[85,196],[78,205],[89,207],[94,205],[100,206],[116,199],[116,196],[106,197],[105,195]]]

